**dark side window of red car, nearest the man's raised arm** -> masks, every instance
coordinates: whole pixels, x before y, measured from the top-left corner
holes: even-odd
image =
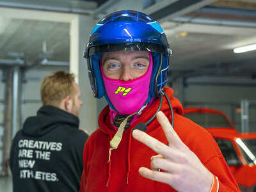
[[[215,139],[220,147],[221,153],[229,166],[238,166],[241,164],[236,154],[233,143],[230,140]]]

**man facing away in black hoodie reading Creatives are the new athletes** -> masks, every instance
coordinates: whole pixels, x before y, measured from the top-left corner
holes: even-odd
[[[13,139],[13,191],[79,191],[88,138],[78,129],[80,96],[72,74],[59,71],[45,77],[42,108],[26,119]]]

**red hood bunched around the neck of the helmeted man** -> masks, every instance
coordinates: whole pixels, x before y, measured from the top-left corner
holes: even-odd
[[[180,101],[178,99],[173,97],[172,88],[164,87],[164,92],[166,93],[166,95],[168,95],[168,98],[170,99],[170,102],[171,102],[172,108],[173,108],[173,113],[178,113],[179,115],[183,115],[182,105],[180,104]],[[147,109],[147,112],[142,113],[140,118],[138,118],[138,120],[136,120],[136,122],[134,122],[134,124],[132,124],[127,129],[127,131],[124,132],[124,134],[126,134],[127,132],[130,132],[133,129],[133,127],[135,127],[138,123],[140,123],[140,122],[146,123],[148,120],[150,120],[150,118],[156,113],[157,108],[159,106],[159,102],[160,102],[160,99],[158,98],[150,106],[150,108]],[[162,105],[161,111],[163,111],[163,113],[166,116],[170,115],[170,107],[169,107],[168,101],[165,99],[165,97],[163,97],[163,105]],[[100,113],[98,123],[100,125],[99,127],[102,132],[110,135],[111,138],[115,135],[116,131],[110,122],[109,106],[106,106],[106,108],[104,108],[102,110],[102,112]],[[152,122],[152,123],[154,124],[154,122]],[[150,123],[150,124],[152,124],[152,123]],[[154,129],[154,126],[150,126],[150,124],[148,125],[148,129],[146,132],[150,132],[150,131],[152,131],[152,129]]]

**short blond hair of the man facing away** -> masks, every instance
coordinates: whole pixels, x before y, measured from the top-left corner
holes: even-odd
[[[55,72],[52,76],[44,77],[40,88],[43,106],[58,106],[62,99],[74,95],[74,74],[64,71]]]

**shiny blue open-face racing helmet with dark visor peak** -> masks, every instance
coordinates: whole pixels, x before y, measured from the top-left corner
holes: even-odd
[[[172,50],[156,20],[141,12],[125,10],[107,15],[93,28],[84,58],[87,59],[94,97],[105,95],[108,102],[99,63],[102,53],[111,51],[150,51],[153,69],[149,94],[150,98],[160,97],[168,76],[168,57]]]

